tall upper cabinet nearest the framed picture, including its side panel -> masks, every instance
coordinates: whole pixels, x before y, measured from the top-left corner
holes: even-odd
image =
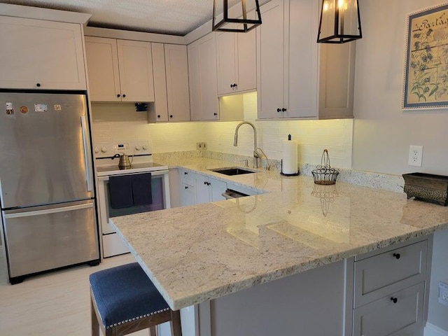
[[[318,1],[260,9],[258,118],[352,118],[355,42],[316,43]]]

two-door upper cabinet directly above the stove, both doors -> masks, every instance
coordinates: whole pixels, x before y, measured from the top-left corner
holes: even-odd
[[[154,102],[151,43],[85,37],[93,102]]]

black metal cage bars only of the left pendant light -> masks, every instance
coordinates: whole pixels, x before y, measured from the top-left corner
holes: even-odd
[[[223,1],[223,13],[222,20],[218,19],[218,6],[217,1]],[[235,33],[246,33],[251,31],[255,27],[261,25],[261,15],[260,15],[260,4],[258,0],[254,0],[255,8],[251,11],[253,18],[248,18],[248,11],[246,6],[246,0],[241,0],[241,11],[235,10],[239,9],[238,5],[229,8],[228,0],[214,0],[213,6],[213,31],[232,31]],[[230,15],[229,10],[235,10],[237,15]],[[220,15],[221,17],[221,15]]]

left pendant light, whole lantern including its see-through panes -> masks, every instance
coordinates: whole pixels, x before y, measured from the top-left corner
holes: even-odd
[[[261,25],[258,0],[234,0],[230,4],[229,8],[228,0],[214,0],[213,31],[246,33]]]

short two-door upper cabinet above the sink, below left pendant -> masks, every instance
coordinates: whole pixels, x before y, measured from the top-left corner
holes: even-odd
[[[255,90],[255,30],[246,34],[223,32],[216,36],[218,94]]]

